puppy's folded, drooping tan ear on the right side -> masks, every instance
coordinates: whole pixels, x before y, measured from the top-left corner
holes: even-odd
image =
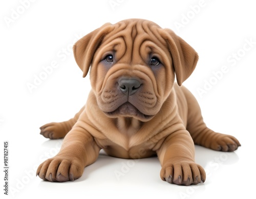
[[[167,41],[170,54],[172,54],[173,58],[177,83],[181,86],[196,68],[198,54],[172,30],[161,29],[161,35]]]

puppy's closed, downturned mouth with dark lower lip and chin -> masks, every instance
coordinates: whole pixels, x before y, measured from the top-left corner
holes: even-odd
[[[145,115],[141,113],[134,105],[132,105],[130,102],[125,102],[121,106],[119,106],[116,110],[113,112],[104,112],[107,116],[111,118],[116,118],[119,116],[123,117],[133,117],[137,118],[141,121],[148,121],[154,117],[151,115]]]

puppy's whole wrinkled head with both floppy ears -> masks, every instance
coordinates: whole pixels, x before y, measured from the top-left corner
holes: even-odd
[[[108,117],[153,118],[194,71],[198,55],[183,39],[152,21],[127,19],[105,24],[74,45],[85,77],[90,71],[99,108]]]

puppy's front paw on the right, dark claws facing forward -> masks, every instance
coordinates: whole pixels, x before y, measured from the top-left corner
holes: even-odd
[[[194,162],[165,163],[160,172],[161,179],[177,185],[196,185],[204,182],[204,169]]]

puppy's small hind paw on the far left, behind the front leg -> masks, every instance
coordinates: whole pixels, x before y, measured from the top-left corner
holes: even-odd
[[[64,138],[67,132],[63,129],[62,123],[51,122],[40,127],[40,134],[45,138],[59,139]]]

